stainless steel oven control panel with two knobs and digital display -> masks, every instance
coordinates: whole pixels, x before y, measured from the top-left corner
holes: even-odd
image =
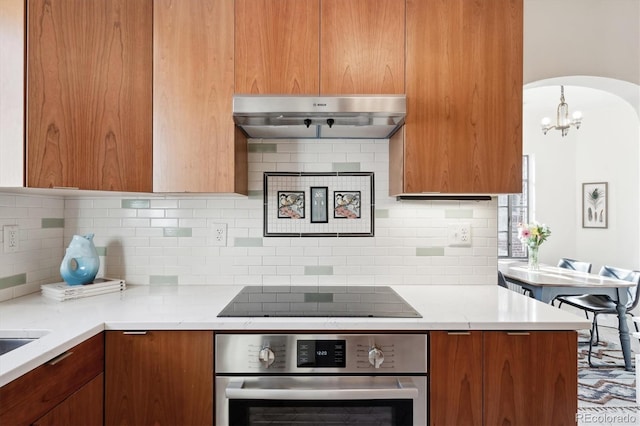
[[[216,334],[216,374],[427,372],[426,334]]]

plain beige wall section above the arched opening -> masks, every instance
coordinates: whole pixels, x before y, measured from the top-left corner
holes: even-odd
[[[640,1],[524,0],[524,82],[565,75],[640,85]]]

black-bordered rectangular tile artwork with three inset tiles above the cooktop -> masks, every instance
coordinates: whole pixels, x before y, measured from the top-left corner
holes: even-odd
[[[264,173],[264,236],[371,237],[372,172]]]

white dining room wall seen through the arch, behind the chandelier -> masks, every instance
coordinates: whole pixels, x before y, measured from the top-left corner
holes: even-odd
[[[570,112],[581,110],[583,125],[562,138],[545,136],[540,120],[555,120],[559,86],[524,92],[523,152],[535,164],[535,218],[552,228],[541,261],[573,257],[602,265],[640,269],[640,120],[621,98],[596,89],[565,86]],[[608,182],[607,229],[582,228],[582,183]]]

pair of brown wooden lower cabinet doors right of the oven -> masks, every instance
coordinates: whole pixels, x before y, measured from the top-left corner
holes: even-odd
[[[575,425],[575,331],[430,333],[431,425]]]

